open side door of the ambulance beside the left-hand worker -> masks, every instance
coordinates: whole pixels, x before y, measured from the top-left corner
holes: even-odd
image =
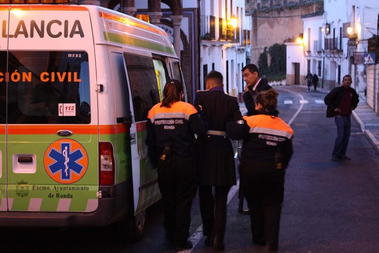
[[[153,60],[152,54],[147,51],[127,48],[124,48],[124,60],[132,112],[130,137],[134,213],[138,214],[161,198],[157,168],[150,162],[145,143],[148,112],[160,101],[157,75],[161,64]]]

